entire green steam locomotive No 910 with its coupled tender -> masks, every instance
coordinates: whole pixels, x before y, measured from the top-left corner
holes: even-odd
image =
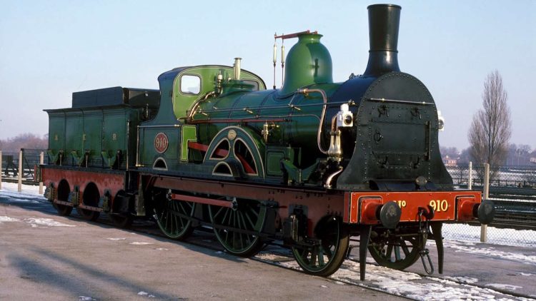
[[[442,125],[426,86],[399,71],[400,6],[372,5],[369,61],[334,83],[321,35],[302,32],[281,88],[234,66],[174,68],[159,91],[73,93],[49,113],[45,196],[60,215],[109,215],[126,227],[154,218],[182,240],[209,227],[227,252],[250,256],[282,240],[305,272],[327,276],[359,235],[379,265],[443,267],[442,224],[478,218],[493,204],[455,190],[442,163]],[[275,64],[275,62],[274,62]]]

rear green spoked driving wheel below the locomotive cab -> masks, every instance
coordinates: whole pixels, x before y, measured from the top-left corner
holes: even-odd
[[[194,216],[195,203],[167,198],[164,190],[157,191],[154,198],[157,200],[154,213],[164,235],[173,240],[184,240],[192,234],[194,228],[189,218]]]

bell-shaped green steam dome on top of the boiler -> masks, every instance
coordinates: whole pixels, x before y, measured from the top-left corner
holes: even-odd
[[[282,95],[313,83],[332,83],[332,56],[320,43],[321,34],[300,34],[287,55]]]

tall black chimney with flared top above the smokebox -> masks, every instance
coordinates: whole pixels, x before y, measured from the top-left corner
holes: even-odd
[[[400,9],[394,4],[374,4],[369,10],[369,62],[363,76],[380,76],[398,67]]]

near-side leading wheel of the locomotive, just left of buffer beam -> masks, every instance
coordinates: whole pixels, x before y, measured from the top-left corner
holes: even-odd
[[[317,225],[311,246],[293,247],[294,258],[304,272],[327,277],[336,272],[348,251],[349,235],[339,219],[330,217]]]

